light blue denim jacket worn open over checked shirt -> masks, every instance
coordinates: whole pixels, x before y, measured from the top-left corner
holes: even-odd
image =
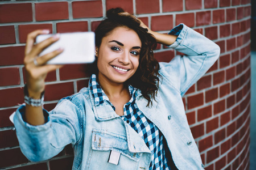
[[[177,28],[181,28],[179,36],[169,47],[186,56],[160,63],[162,79],[152,107],[146,107],[139,90],[136,103],[164,135],[178,169],[204,169],[182,96],[217,60],[220,48],[184,24]],[[24,105],[17,109],[14,125],[20,149],[33,162],[50,159],[71,143],[73,169],[148,169],[150,165],[151,152],[143,139],[109,104],[96,106],[88,88],[61,99],[49,113],[44,110],[44,125],[25,122],[24,109]],[[121,153],[118,165],[108,162],[110,151]]]

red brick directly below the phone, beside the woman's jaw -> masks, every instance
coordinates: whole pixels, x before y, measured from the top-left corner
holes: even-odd
[[[86,64],[65,65],[60,68],[60,80],[86,78],[89,76],[88,71]]]

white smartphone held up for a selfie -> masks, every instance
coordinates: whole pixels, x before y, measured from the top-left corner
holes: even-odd
[[[36,43],[51,36],[53,34],[39,35],[36,37]],[[92,63],[95,59],[95,34],[94,32],[60,33],[60,39],[44,49],[39,57],[59,48],[63,48],[63,52],[50,59],[47,64]]]

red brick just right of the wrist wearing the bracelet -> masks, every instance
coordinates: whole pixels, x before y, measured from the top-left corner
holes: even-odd
[[[72,94],[74,94],[73,82],[48,84],[46,85],[44,99],[46,101],[60,100],[61,98]]]

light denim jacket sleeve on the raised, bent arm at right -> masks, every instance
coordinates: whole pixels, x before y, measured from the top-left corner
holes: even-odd
[[[170,63],[160,63],[160,75],[183,96],[220,56],[220,47],[207,37],[180,24],[169,33],[177,35],[170,45],[185,56],[175,56]]]

